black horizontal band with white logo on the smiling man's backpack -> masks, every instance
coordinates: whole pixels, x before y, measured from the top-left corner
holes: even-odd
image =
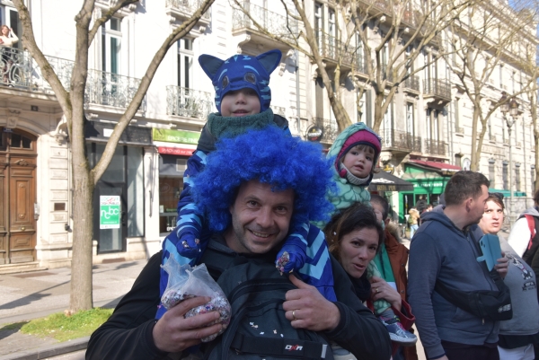
[[[328,346],[314,341],[287,338],[249,337],[238,332],[231,347],[239,353],[286,356],[297,359],[325,359]]]

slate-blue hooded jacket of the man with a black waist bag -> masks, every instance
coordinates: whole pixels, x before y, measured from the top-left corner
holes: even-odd
[[[427,356],[444,354],[441,340],[467,345],[496,343],[499,321],[464,312],[434,291],[437,281],[462,291],[498,290],[484,261],[476,260],[480,254],[473,239],[479,241],[481,229],[472,225],[469,231],[461,231],[442,206],[422,219],[411,240],[408,299]]]

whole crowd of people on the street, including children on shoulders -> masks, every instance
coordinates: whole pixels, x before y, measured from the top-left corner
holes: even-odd
[[[500,238],[489,269],[477,258],[483,234],[499,232],[503,202],[482,174],[459,171],[445,205],[416,204],[409,251],[387,200],[367,191],[380,136],[353,124],[325,158],[291,136],[270,109],[280,59],[278,50],[199,57],[218,112],[188,161],[177,227],[93,333],[86,358],[413,360],[414,323],[429,359],[535,358],[539,235],[528,224],[539,212],[518,220],[514,239]],[[207,295],[163,306],[172,259],[205,264],[230,302],[226,322]]]

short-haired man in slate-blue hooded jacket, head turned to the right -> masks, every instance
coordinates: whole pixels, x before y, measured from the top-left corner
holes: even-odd
[[[437,282],[461,291],[498,288],[480,256],[482,218],[490,182],[479,172],[459,171],[447,182],[446,206],[421,216],[411,241],[408,299],[416,316],[421,343],[429,359],[499,359],[499,321],[481,319],[455,307],[438,294]],[[507,258],[498,259],[502,277]]]

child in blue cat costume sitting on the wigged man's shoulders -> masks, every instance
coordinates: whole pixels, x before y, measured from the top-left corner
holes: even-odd
[[[216,150],[216,142],[224,138],[241,136],[248,130],[275,127],[280,128],[281,135],[291,136],[287,119],[273,114],[270,109],[270,74],[278,66],[280,59],[281,52],[278,49],[264,52],[256,57],[238,54],[225,60],[207,54],[199,57],[202,70],[211,79],[216,90],[215,101],[219,112],[208,115],[208,121],[200,134],[197,150],[187,162],[183,189],[178,201],[176,228],[163,241],[163,265],[171,256],[181,264],[194,265],[207,246],[202,228],[202,225],[207,223],[206,215],[203,211],[199,211],[199,204],[193,198],[192,192],[198,184],[195,179],[204,171],[209,154]],[[247,143],[253,144],[253,141],[250,140]],[[238,154],[243,154],[243,149],[238,149],[240,149]],[[310,225],[309,220],[320,218],[320,216],[301,215],[302,211],[300,204],[296,209],[298,215],[295,215],[295,219],[303,219],[304,223],[294,222],[289,241],[286,241],[278,253],[277,268],[281,273],[296,271],[302,274],[308,284],[316,286],[327,299],[334,300],[335,295],[331,283],[326,284],[326,279],[318,274],[319,268],[311,266],[313,263],[319,264],[322,253],[311,249],[313,244],[308,242],[309,239],[314,241],[320,233],[318,229]],[[323,208],[319,211],[323,212]],[[316,251],[321,249],[319,242],[314,243]],[[306,262],[307,259],[312,262]],[[166,271],[162,270],[161,277],[163,293],[168,280]],[[327,277],[327,279],[330,278],[330,276]],[[163,307],[159,308],[157,318],[159,319],[164,312]]]

